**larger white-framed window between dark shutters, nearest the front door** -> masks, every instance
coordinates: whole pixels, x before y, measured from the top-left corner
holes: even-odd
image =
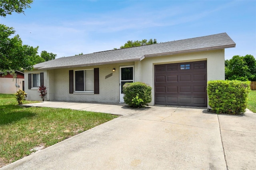
[[[94,91],[94,70],[75,71],[75,91]]]

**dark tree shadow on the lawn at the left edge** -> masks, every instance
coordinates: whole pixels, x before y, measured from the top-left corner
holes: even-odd
[[[0,106],[0,125],[14,123],[24,118],[31,119],[35,115],[36,115],[35,113],[26,111],[26,109],[23,109],[18,105],[1,105]]]

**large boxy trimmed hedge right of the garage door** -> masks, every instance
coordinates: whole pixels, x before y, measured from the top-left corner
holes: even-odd
[[[247,106],[250,81],[208,81],[209,105],[215,113],[243,114]]]

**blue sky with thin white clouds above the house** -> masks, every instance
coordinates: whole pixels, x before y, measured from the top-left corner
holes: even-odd
[[[128,40],[169,42],[226,32],[225,50],[256,57],[255,0],[34,0],[24,14],[1,17],[23,44],[68,57],[119,48]]]

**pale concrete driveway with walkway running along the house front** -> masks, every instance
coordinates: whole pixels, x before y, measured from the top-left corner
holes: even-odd
[[[106,111],[123,116],[1,170],[233,170],[256,167],[256,114],[249,111],[233,116],[182,107],[130,109],[124,105],[70,102],[32,105]]]

